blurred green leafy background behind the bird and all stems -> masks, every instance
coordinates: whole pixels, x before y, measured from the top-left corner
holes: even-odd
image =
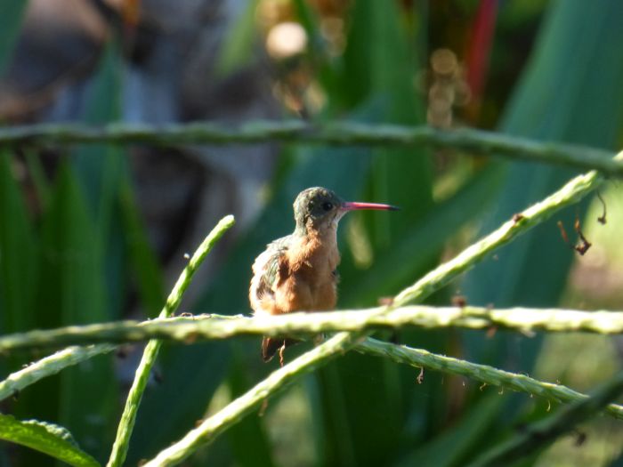
[[[4,0],[0,119],[159,124],[293,117],[481,127],[543,141],[620,146],[619,0]],[[400,205],[340,229],[340,308],[373,306],[573,176],[557,166],[428,149],[91,145],[0,149],[0,331],[155,316],[224,213],[239,220],[184,312],[249,312],[250,266],[321,185]],[[621,310],[617,181],[555,216],[429,302]],[[574,256],[556,221],[579,218]],[[409,330],[382,335],[589,391],[623,342],[588,335]],[[298,346],[289,357],[309,348]],[[37,382],[3,413],[59,423],[105,462],[141,346]],[[42,355],[0,357],[6,375]],[[128,465],[179,439],[278,365],[258,339],[166,344]],[[251,415],[185,465],[460,466],[550,404],[448,374],[349,354]],[[555,409],[555,405],[552,404]],[[623,465],[620,423],[597,418],[521,465]],[[0,444],[2,465],[51,458]]]

